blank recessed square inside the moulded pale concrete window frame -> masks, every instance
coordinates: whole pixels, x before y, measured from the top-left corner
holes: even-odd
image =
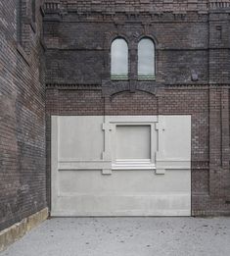
[[[150,126],[116,126],[116,159],[150,159]]]

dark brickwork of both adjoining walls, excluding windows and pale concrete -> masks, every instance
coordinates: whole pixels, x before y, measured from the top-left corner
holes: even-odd
[[[50,203],[51,115],[191,115],[193,215],[230,214],[229,0],[46,0],[45,74],[43,1],[33,24],[22,0],[20,36],[17,2],[0,2],[0,230]],[[115,36],[125,82],[110,79]],[[137,80],[142,36],[156,81]]]

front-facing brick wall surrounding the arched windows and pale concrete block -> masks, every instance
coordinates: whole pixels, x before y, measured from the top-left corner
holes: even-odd
[[[48,179],[51,115],[191,115],[192,213],[230,214],[229,7],[212,0],[47,0]],[[128,81],[110,79],[116,36],[128,43]],[[142,36],[156,43],[156,81],[137,80]]]

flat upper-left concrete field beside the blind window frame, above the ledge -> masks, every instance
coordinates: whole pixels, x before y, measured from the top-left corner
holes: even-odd
[[[104,149],[103,117],[59,117],[59,158],[100,160]]]

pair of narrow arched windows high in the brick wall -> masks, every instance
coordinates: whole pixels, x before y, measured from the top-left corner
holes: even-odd
[[[150,38],[138,43],[138,78],[155,78],[155,44]],[[128,78],[128,45],[123,38],[116,38],[111,46],[111,77]]]

